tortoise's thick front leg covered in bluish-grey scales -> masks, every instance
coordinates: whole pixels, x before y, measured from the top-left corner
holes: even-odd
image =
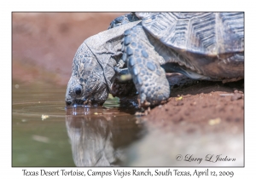
[[[170,95],[166,72],[160,66],[161,57],[149,43],[142,26],[125,31],[122,49],[122,59],[136,85],[141,106],[155,106],[166,101]]]

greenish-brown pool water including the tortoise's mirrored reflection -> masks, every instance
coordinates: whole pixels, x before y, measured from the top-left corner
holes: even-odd
[[[65,109],[65,94],[65,86],[13,82],[12,165],[120,165],[121,148],[142,129],[135,111],[118,109],[116,99]],[[99,160],[105,155],[111,164]]]

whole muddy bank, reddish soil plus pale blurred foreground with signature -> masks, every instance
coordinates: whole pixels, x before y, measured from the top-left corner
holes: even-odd
[[[199,82],[172,90],[166,104],[143,112],[141,123],[148,135],[131,145],[127,165],[244,165],[243,89],[241,80]],[[233,160],[221,160],[225,158]]]

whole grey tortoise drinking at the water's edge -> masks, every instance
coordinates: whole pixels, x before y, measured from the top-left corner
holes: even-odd
[[[159,105],[171,94],[166,72],[224,83],[244,78],[244,13],[131,13],[116,18],[107,31],[79,47],[66,104],[102,105],[115,81],[130,74],[140,104]]]

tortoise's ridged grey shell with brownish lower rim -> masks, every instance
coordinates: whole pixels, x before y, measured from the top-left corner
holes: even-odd
[[[149,13],[143,28],[178,62],[212,79],[243,77],[244,13]],[[177,58],[175,56],[178,56]]]

